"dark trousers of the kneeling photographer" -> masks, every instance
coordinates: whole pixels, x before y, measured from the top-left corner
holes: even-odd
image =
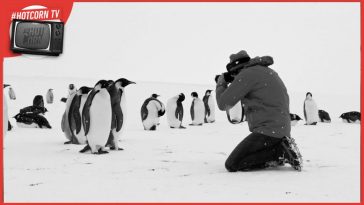
[[[227,158],[225,167],[230,172],[262,169],[270,161],[283,155],[280,138],[251,133],[235,147]]]

